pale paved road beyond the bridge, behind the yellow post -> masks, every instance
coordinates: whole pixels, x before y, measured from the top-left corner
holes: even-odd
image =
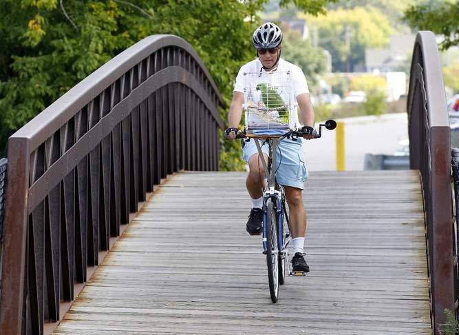
[[[365,154],[394,154],[398,141],[408,138],[407,114],[341,119],[345,123],[346,170],[363,170]],[[310,171],[336,169],[335,133],[304,144]]]

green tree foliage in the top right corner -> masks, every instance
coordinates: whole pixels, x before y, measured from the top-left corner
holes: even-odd
[[[459,1],[436,0],[409,6],[404,19],[412,28],[440,35],[443,38],[440,48],[446,50],[459,45],[458,17]]]

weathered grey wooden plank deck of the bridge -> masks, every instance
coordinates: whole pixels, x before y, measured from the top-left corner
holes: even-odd
[[[244,173],[175,174],[54,334],[430,334],[418,173],[312,172],[306,277],[270,301]]]

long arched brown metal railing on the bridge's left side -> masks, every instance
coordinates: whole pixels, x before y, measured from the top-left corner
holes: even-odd
[[[178,170],[218,170],[220,93],[198,54],[147,37],[8,142],[0,334],[43,334],[120,223]]]

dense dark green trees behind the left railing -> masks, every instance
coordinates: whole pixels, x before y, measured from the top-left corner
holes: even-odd
[[[317,14],[334,0],[282,0]],[[268,0],[0,1],[0,145],[78,81],[151,34],[188,41],[229,104],[239,67],[253,58],[256,12]],[[248,19],[247,19],[248,18]],[[222,110],[226,122],[227,112]],[[223,170],[242,169],[236,141]]]

